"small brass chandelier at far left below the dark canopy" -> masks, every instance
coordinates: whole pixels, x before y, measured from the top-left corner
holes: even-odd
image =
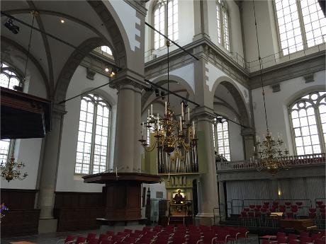
[[[10,182],[11,180],[24,180],[27,173],[24,173],[21,175],[21,169],[25,167],[25,164],[23,162],[16,163],[15,162],[15,156],[13,156],[13,153],[11,154],[9,161],[6,163],[1,162],[1,177]]]

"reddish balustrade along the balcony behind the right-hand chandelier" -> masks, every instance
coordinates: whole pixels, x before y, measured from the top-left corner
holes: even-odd
[[[288,166],[299,166],[299,165],[317,165],[324,163],[325,164],[326,153],[314,153],[298,156],[285,156],[281,158],[281,161],[286,163]],[[257,164],[252,161],[223,161],[216,162],[217,171],[225,170],[255,170]]]

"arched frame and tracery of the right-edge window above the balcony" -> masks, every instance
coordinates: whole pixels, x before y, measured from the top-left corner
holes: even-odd
[[[292,115],[291,112],[293,111],[292,107],[293,105],[296,105],[297,103],[299,103],[300,101],[309,101],[309,99],[303,98],[306,95],[311,95],[313,93],[320,93],[320,92],[326,92],[326,91],[310,91],[308,93],[303,93],[302,95],[300,95],[299,98],[296,98],[290,105],[288,105],[288,119],[290,120],[290,126],[291,126],[291,139],[292,139],[292,144],[293,144],[293,152],[295,155],[298,156],[298,152],[297,152],[297,146],[296,146],[296,135],[294,132],[294,127],[293,127],[293,119],[292,119]],[[326,94],[325,94],[326,95]],[[323,95],[323,96],[325,96]],[[320,99],[320,101],[322,100],[322,98]],[[325,138],[322,132],[322,123],[320,120],[320,112],[318,109],[318,105],[316,105],[315,103],[312,102],[312,100],[310,100],[313,105],[313,109],[315,112],[315,120],[316,120],[316,126],[317,126],[317,134],[318,134],[318,139],[320,142],[320,153],[325,153],[326,152],[326,146],[325,146]],[[318,103],[319,104],[319,103]],[[300,127],[301,128],[301,127]],[[302,155],[302,154],[300,154]],[[305,155],[305,154],[303,154]]]

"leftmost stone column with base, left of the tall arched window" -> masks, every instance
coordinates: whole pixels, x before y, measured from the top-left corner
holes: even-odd
[[[43,161],[40,174],[38,208],[40,209],[39,233],[57,231],[57,219],[53,216],[55,184],[60,156],[64,106],[56,105],[52,112],[52,129],[45,137]]]

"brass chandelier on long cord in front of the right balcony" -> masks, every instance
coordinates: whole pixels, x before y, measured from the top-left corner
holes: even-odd
[[[254,6],[254,0],[252,0]],[[265,122],[266,122],[266,135],[263,134],[263,139],[260,141],[259,136],[256,138],[256,143],[254,146],[254,162],[256,163],[256,169],[258,171],[268,170],[271,175],[275,175],[279,172],[280,169],[288,169],[289,162],[284,158],[284,156],[288,155],[288,149],[282,151],[281,146],[283,145],[283,140],[281,139],[278,133],[278,139],[275,140],[273,136],[271,136],[271,132],[269,132],[269,123],[267,120],[266,113],[266,101],[265,101],[265,91],[264,91],[264,83],[262,79],[262,58],[260,57],[259,50],[259,40],[258,40],[258,32],[257,32],[257,19],[256,19],[256,11],[254,8],[254,24],[256,28],[256,38],[257,38],[257,47],[258,47],[258,59],[259,59],[259,69],[260,69],[260,81],[262,84],[262,95],[264,100],[264,114],[265,114]],[[252,161],[252,158],[250,158]]]

